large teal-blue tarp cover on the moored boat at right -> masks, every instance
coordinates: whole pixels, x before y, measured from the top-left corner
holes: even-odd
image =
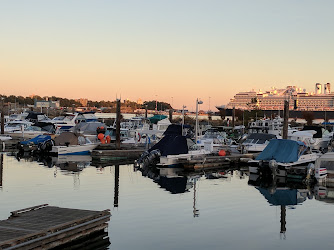
[[[276,160],[281,163],[295,162],[298,160],[299,147],[302,142],[284,139],[272,139],[268,146],[256,157],[259,161]]]

